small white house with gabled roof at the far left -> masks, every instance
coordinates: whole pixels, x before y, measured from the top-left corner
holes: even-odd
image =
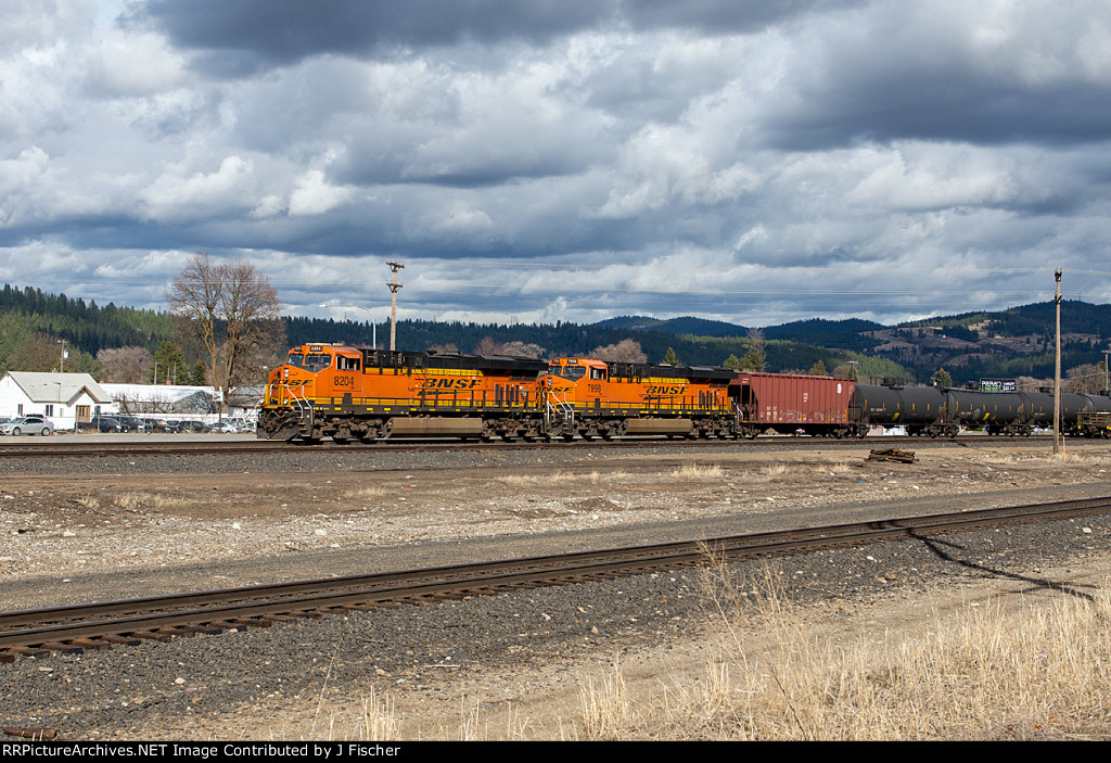
[[[88,373],[9,371],[0,378],[0,415],[40,413],[57,430],[77,429],[91,421],[112,396]]]

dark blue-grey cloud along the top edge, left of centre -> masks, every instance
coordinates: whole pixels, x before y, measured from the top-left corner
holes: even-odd
[[[356,57],[473,41],[547,43],[599,26],[702,34],[760,31],[863,0],[150,0],[121,18],[150,24],[176,46],[204,51],[200,66],[230,77],[334,53]]]

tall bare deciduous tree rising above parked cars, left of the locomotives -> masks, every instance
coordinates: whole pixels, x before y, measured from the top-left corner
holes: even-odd
[[[248,262],[217,263],[208,252],[197,254],[173,279],[166,300],[201,340],[209,379],[226,392],[260,375],[252,358],[286,343],[278,292]]]

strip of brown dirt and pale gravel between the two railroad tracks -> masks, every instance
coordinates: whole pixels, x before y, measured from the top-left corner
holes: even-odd
[[[867,448],[588,453],[556,468],[8,476],[0,481],[0,581],[710,518],[743,516],[758,530],[843,516],[848,505],[1100,482],[1111,473],[1111,448],[1098,441],[1070,446],[1064,462],[1007,444],[920,449],[914,464],[867,455]]]

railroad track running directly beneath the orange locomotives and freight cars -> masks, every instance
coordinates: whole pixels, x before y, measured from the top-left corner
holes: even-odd
[[[230,454],[263,454],[263,453],[358,453],[366,451],[406,451],[406,450],[429,450],[433,448],[452,450],[488,450],[494,449],[551,449],[551,448],[655,448],[659,445],[691,445],[699,448],[755,448],[760,445],[782,445],[790,444],[799,448],[875,448],[879,445],[927,445],[927,444],[957,444],[968,446],[970,444],[995,445],[1001,443],[1038,443],[1043,444],[1047,438],[1031,436],[1015,440],[1013,438],[988,438],[983,435],[965,435],[955,439],[930,440],[923,438],[908,436],[878,436],[865,439],[811,438],[811,436],[767,436],[755,440],[684,440],[663,438],[629,438],[612,441],[582,441],[572,442],[460,442],[444,440],[393,440],[376,443],[347,443],[336,444],[323,442],[314,445],[294,444],[288,442],[272,442],[269,440],[240,441],[240,442],[97,442],[97,443],[39,443],[27,442],[18,444],[0,445],[0,459],[49,459],[49,458],[108,458],[108,456],[137,456],[137,455],[230,455]]]

